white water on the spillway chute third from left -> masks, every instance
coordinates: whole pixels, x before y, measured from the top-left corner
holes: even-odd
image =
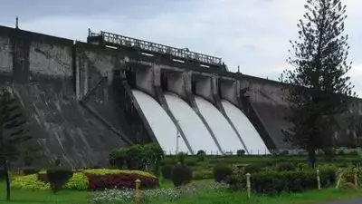
[[[211,102],[195,96],[195,101],[200,112],[205,117],[205,120],[213,130],[214,135],[219,141],[219,144],[224,152],[232,151],[235,153],[238,150],[243,150],[243,143],[239,140],[232,126],[225,119],[224,115],[217,110]]]

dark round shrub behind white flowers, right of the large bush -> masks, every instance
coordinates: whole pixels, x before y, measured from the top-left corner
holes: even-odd
[[[172,169],[172,182],[176,187],[186,185],[192,180],[192,170],[182,164],[177,164]]]

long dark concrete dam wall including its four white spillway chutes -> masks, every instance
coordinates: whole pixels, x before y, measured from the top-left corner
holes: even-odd
[[[29,118],[44,164],[107,164],[114,148],[157,142],[167,153],[269,154],[284,140],[282,83],[231,73],[220,58],[119,34],[87,43],[0,26],[0,85]],[[361,105],[329,120],[333,145],[359,139]]]

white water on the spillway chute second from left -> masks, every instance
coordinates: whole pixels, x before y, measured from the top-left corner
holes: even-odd
[[[207,131],[204,122],[201,121],[194,110],[174,93],[165,93],[165,98],[171,112],[185,132],[187,141],[193,151],[203,150],[207,154],[218,152],[219,150],[210,132]]]

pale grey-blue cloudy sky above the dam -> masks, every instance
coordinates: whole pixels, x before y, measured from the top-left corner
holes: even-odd
[[[31,3],[30,3],[31,2]],[[88,28],[222,57],[229,70],[277,80],[289,40],[297,39],[305,0],[12,0],[2,2],[1,24],[86,41]],[[348,5],[349,75],[362,96],[361,0]],[[360,21],[360,20],[359,20]]]

